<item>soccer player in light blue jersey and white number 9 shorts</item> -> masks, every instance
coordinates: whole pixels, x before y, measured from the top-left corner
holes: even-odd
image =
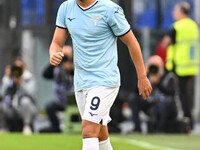
[[[140,46],[120,6],[110,0],[68,0],[61,4],[50,46],[50,63],[58,65],[68,34],[73,41],[74,89],[82,117],[83,150],[112,150],[109,112],[120,86],[117,37],[129,48],[139,94],[151,93]]]

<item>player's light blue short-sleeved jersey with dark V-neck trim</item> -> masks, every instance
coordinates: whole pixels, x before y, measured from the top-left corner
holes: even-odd
[[[69,31],[74,53],[74,89],[120,86],[117,37],[130,30],[120,6],[98,0],[87,9],[76,0],[61,4],[56,26]]]

